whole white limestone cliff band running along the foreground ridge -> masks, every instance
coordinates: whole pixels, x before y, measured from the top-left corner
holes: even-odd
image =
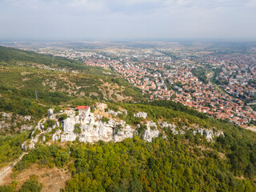
[[[54,121],[55,124],[46,126],[46,121],[38,123],[34,132],[31,134],[30,147],[34,146],[39,140],[46,141],[46,135],[52,134],[53,141],[61,142],[73,142],[78,140],[80,142],[98,142],[102,140],[104,142],[122,142],[126,138],[133,138],[134,134],[138,134],[136,126],[130,126],[126,124],[122,119],[117,118],[116,114],[122,112],[114,112],[109,110],[98,110],[98,113],[91,113],[90,111],[80,110],[75,112],[74,110],[66,110],[64,114],[66,117],[64,120],[62,114],[54,114],[53,110],[48,111],[49,121]],[[124,111],[126,112],[126,111]],[[146,118],[145,112],[139,112],[134,114],[134,117]],[[106,118],[108,117],[108,118]],[[62,119],[62,120],[60,120]],[[153,138],[157,138],[160,134],[163,138],[166,137],[165,130],[171,130],[173,134],[186,134],[186,131],[192,131],[192,134],[201,134],[211,142],[215,137],[223,135],[222,131],[215,131],[213,129],[206,130],[199,127],[177,127],[174,123],[158,122],[158,125],[152,121],[143,120],[141,124],[138,124],[138,129],[143,126],[143,131],[140,131],[140,135],[147,142],[152,142]],[[46,126],[46,127],[45,127]]]

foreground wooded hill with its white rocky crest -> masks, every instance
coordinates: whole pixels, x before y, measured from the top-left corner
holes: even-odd
[[[161,104],[50,109],[26,138],[3,138],[25,155],[2,183],[20,189],[41,182],[43,191],[254,191],[254,133]]]

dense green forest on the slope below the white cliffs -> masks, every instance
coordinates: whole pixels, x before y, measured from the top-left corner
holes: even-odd
[[[118,143],[38,146],[15,170],[35,162],[68,166],[73,176],[62,191],[254,191],[255,138],[247,131],[239,136],[234,128],[216,142],[166,132],[166,139],[153,142],[135,136]]]

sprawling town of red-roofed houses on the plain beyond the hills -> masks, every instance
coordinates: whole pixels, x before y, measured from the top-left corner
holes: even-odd
[[[40,51],[110,68],[150,100],[166,99],[237,125],[255,123],[254,54],[216,54],[170,48]]]

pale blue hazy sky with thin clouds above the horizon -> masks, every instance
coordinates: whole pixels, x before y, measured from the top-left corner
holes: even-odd
[[[256,39],[256,0],[0,0],[0,39]]]

